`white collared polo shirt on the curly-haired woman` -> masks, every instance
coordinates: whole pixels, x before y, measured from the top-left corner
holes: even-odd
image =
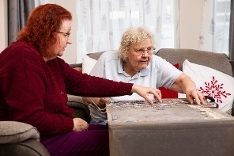
[[[107,51],[100,56],[90,75],[152,88],[159,88],[160,86],[170,88],[181,73],[180,70],[176,69],[165,59],[153,55],[147,68],[140,70],[131,77],[124,71],[123,62],[118,58],[118,51]],[[116,101],[143,100],[136,93],[133,93],[131,96],[125,95],[111,98]]]

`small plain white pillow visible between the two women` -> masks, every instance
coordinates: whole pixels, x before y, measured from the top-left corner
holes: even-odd
[[[88,55],[84,55],[82,60],[82,73],[89,74],[96,62],[97,60],[90,58]]]

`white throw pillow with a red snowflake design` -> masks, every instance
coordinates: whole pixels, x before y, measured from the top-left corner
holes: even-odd
[[[183,72],[191,77],[204,95],[211,96],[219,108],[231,114],[234,100],[234,78],[218,70],[185,60]]]

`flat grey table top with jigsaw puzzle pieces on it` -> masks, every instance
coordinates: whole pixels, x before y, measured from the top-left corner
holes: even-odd
[[[193,122],[233,120],[218,108],[190,105],[185,99],[163,99],[163,103],[145,101],[115,101],[107,104],[108,124],[146,122]]]

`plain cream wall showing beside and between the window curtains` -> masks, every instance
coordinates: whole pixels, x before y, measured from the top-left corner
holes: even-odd
[[[73,43],[67,46],[64,56],[62,56],[62,58],[68,63],[75,63],[77,51],[77,37],[75,31],[77,21],[74,18],[76,16],[76,5],[74,4],[76,4],[76,0],[54,0],[53,2],[62,5],[73,15],[73,23],[71,30],[71,38]],[[2,51],[7,45],[6,3],[7,0],[0,0],[0,21],[4,21],[4,24],[0,25],[0,51]],[[200,26],[202,23],[203,3],[204,0],[179,0],[180,48],[198,49]]]

